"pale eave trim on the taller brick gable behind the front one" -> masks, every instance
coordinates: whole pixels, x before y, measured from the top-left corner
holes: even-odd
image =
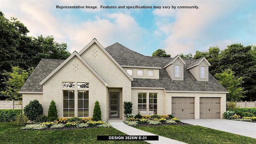
[[[85,46],[78,54],[81,56],[94,43],[100,47],[100,49],[110,58],[110,60],[112,60],[112,62],[114,62],[114,64],[116,64],[116,66],[127,76],[127,78],[133,81],[132,76],[130,76],[130,74],[128,74],[124,70],[124,68],[122,68],[120,64],[118,64],[118,62],[116,62],[116,60],[105,50],[105,48],[96,40],[96,38],[94,38],[89,44],[87,44],[87,46]]]

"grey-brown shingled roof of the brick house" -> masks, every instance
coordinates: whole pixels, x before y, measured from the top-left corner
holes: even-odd
[[[183,59],[186,63],[184,65],[184,80],[172,80],[163,67],[173,58],[144,56],[119,43],[112,44],[111,46],[106,47],[105,50],[121,66],[161,68],[159,70],[159,79],[134,78],[132,81],[132,87],[164,88],[166,91],[227,92],[227,90],[210,73],[208,82],[197,81],[190,71],[187,70],[188,66],[191,66],[200,60]],[[20,89],[20,93],[42,92],[43,87],[39,85],[39,83],[62,62],[64,62],[64,60],[42,59]]]

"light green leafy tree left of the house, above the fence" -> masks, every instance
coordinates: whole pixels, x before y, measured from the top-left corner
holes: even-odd
[[[32,68],[26,71],[18,66],[12,67],[12,72],[4,71],[2,75],[8,79],[4,79],[5,88],[0,96],[7,97],[6,100],[22,100],[22,94],[18,92],[32,71]]]

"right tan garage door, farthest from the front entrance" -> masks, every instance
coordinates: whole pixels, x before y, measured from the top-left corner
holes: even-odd
[[[220,98],[200,98],[200,118],[220,118]]]

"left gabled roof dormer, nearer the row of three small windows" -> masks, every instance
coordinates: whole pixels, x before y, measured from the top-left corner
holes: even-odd
[[[184,80],[184,65],[186,63],[177,55],[164,66],[172,80]]]

